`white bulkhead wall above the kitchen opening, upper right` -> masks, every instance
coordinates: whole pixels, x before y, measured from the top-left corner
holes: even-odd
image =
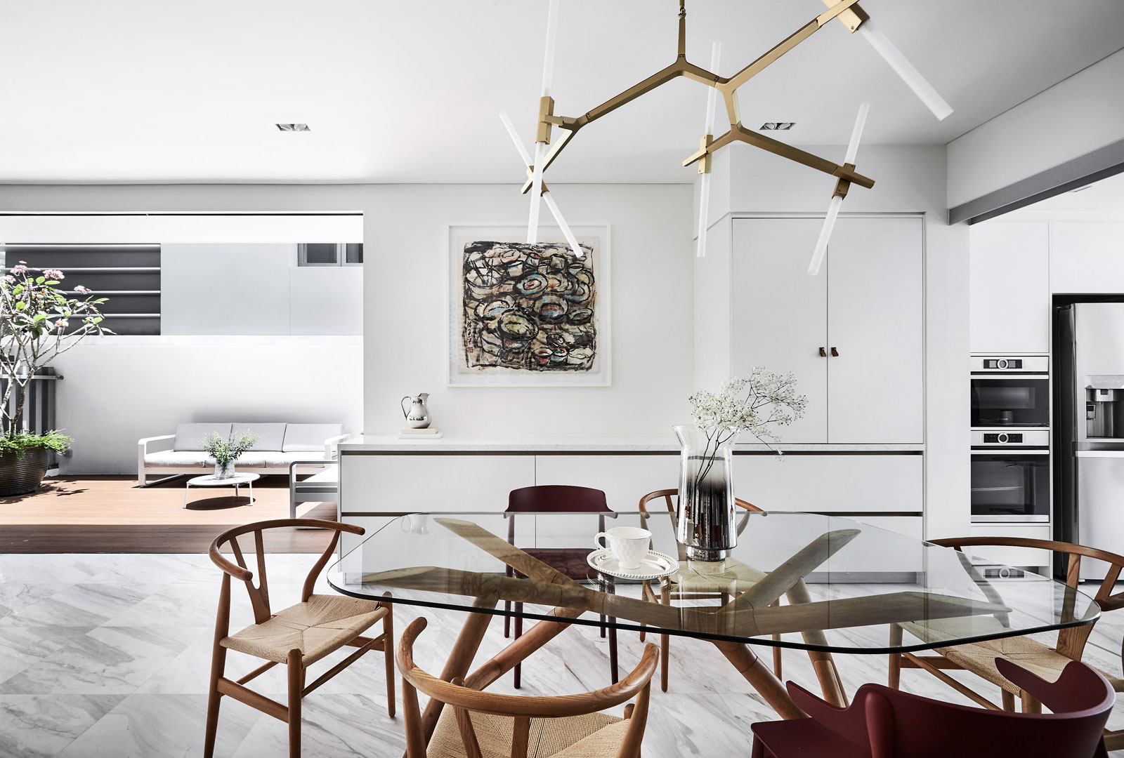
[[[1124,139],[1122,92],[1124,51],[953,139],[949,208]]]

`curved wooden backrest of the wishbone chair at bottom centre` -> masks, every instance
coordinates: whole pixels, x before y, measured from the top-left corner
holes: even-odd
[[[636,668],[608,687],[577,695],[553,697],[505,695],[466,687],[460,678],[445,682],[419,668],[414,663],[414,640],[425,628],[426,619],[424,617],[415,619],[402,632],[395,655],[398,672],[402,676],[402,712],[406,716],[407,758],[425,758],[426,755],[426,740],[418,709],[418,692],[454,710],[468,756],[480,755],[477,734],[472,725],[472,713],[513,719],[515,722],[511,729],[513,758],[526,757],[527,734],[532,719],[562,719],[584,715],[614,707],[635,697],[635,707],[632,711],[627,732],[617,756],[619,758],[638,758],[640,745],[647,721],[650,683],[660,655],[660,649],[655,645],[646,645]]]

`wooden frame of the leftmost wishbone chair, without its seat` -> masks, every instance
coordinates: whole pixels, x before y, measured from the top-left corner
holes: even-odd
[[[223,532],[211,542],[209,550],[210,559],[216,566],[223,569],[223,585],[219,591],[218,614],[215,621],[215,643],[211,652],[211,674],[207,703],[207,737],[203,747],[205,758],[211,758],[215,755],[218,711],[224,695],[234,697],[251,707],[255,707],[274,719],[288,723],[289,755],[291,758],[298,758],[300,756],[301,700],[305,695],[319,687],[371,650],[383,651],[387,667],[387,711],[389,715],[395,715],[393,611],[389,603],[381,604],[387,611],[386,615],[382,617],[382,633],[374,638],[356,636],[345,642],[345,646],[357,649],[320,675],[311,684],[306,684],[305,675],[307,669],[302,663],[301,650],[294,648],[289,651],[288,660],[285,661],[288,666],[288,705],[282,705],[275,700],[245,686],[247,682],[277,666],[277,661],[269,660],[237,681],[228,679],[224,676],[228,648],[223,647],[220,642],[230,634],[230,579],[238,579],[246,585],[246,592],[250,594],[250,603],[254,611],[254,623],[260,624],[269,621],[273,617],[273,612],[270,609],[270,591],[265,574],[265,550],[262,532],[268,529],[291,527],[329,529],[333,531],[328,547],[325,548],[324,554],[312,565],[311,570],[309,570],[308,576],[305,578],[305,584],[300,593],[300,602],[302,603],[307,602],[312,595],[312,591],[316,587],[316,579],[339,542],[339,533],[362,535],[365,531],[362,527],[335,521],[321,521],[319,519],[275,519],[235,527]],[[246,566],[246,559],[238,542],[238,537],[247,533],[253,533],[254,536],[254,552],[257,556],[257,586],[254,586],[254,572]],[[230,550],[234,552],[237,565],[227,560],[220,552],[223,546],[227,544],[229,544]]]

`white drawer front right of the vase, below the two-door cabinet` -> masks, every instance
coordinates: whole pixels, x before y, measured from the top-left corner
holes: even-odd
[[[919,455],[735,455],[738,497],[767,511],[919,515]]]

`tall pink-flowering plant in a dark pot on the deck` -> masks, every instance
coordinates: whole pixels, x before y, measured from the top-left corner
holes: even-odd
[[[106,298],[93,298],[81,285],[60,290],[62,280],[57,268],[30,268],[22,261],[0,277],[0,497],[35,492],[47,473],[48,451],[63,453],[73,441],[54,429],[37,433],[24,426],[35,373],[84,337],[112,334],[98,310]]]

